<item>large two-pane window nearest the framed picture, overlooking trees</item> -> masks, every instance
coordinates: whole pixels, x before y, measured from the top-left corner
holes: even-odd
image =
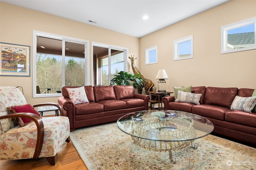
[[[88,41],[34,31],[33,97],[61,96],[63,86],[88,84]]]

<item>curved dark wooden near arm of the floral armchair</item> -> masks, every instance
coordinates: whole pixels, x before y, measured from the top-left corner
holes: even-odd
[[[36,149],[34,152],[33,158],[36,159],[39,157],[39,154],[42,149],[43,141],[44,141],[44,123],[42,119],[34,114],[34,113],[14,113],[14,114],[8,114],[0,116],[0,119],[6,119],[6,118],[14,118],[14,117],[26,117],[29,119],[32,119],[36,123],[37,127],[37,140],[36,140]]]

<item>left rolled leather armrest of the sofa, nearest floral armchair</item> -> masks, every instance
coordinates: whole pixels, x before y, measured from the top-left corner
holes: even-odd
[[[76,123],[75,104],[69,98],[65,98],[64,96],[58,98],[58,104],[63,108],[63,116],[66,116],[69,119],[70,129],[74,129],[74,124]]]

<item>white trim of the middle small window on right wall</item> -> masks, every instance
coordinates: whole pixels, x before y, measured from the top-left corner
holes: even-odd
[[[182,42],[185,42],[185,41],[191,41],[191,56],[190,57],[179,58],[178,57],[178,44],[182,43]],[[184,38],[177,39],[177,40],[173,41],[173,61],[184,60],[184,59],[192,59],[192,58],[194,58],[194,55],[193,55],[193,35],[190,35],[188,37],[184,37]]]

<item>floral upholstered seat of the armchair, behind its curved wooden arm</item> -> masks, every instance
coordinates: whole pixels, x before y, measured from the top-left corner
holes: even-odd
[[[54,156],[70,135],[68,117],[43,117],[44,143],[39,157]],[[34,121],[23,127],[16,126],[0,135],[1,159],[32,158],[36,147],[37,127]],[[5,146],[5,147],[4,147]],[[12,150],[7,149],[12,146]],[[5,149],[6,148],[6,149]]]

